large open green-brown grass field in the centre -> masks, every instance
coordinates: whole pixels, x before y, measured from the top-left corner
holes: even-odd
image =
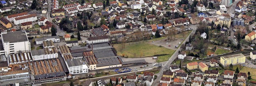
[[[140,58],[140,57],[153,57],[158,56],[158,62],[167,61],[175,52],[172,49],[165,47],[158,47],[148,42],[126,43],[125,48],[122,49],[122,44],[114,44],[114,48],[119,56],[128,58]],[[122,49],[122,50],[121,50]]]

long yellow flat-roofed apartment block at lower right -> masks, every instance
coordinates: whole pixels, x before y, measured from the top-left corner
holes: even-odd
[[[242,63],[245,63],[245,56],[242,53],[220,57],[220,64],[223,66],[227,66],[230,64],[236,65]]]

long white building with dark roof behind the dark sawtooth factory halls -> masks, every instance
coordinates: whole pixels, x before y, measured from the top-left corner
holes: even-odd
[[[108,42],[108,36],[103,35],[103,36],[95,36],[95,37],[89,37],[86,40],[87,44],[91,43],[102,43],[102,42]]]

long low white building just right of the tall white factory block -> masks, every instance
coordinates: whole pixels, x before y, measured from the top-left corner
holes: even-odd
[[[50,37],[42,37],[42,38],[36,38],[36,45],[43,44],[43,41],[50,41],[52,40],[54,43],[55,42],[60,42],[60,37],[59,36],[50,36]]]

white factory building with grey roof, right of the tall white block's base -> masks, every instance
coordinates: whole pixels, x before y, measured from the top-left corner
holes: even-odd
[[[32,50],[31,54],[33,61],[58,58],[58,51],[56,47]]]

